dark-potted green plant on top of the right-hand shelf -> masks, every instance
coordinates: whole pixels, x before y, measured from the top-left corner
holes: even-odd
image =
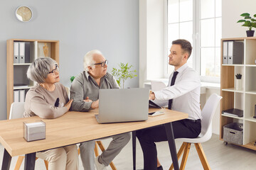
[[[238,23],[244,23],[242,26],[249,28],[249,30],[246,31],[247,37],[253,37],[255,31],[252,30],[252,27],[256,28],[256,14],[254,14],[253,18],[250,16],[250,13],[242,13],[240,16],[245,17],[245,19],[239,20]]]

